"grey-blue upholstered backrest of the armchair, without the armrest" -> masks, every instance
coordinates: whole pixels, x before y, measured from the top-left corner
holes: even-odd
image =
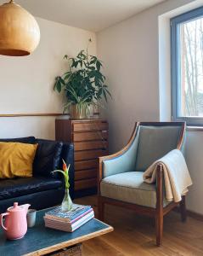
[[[144,172],[155,160],[181,149],[185,131],[184,122],[139,123],[138,149],[135,171]]]

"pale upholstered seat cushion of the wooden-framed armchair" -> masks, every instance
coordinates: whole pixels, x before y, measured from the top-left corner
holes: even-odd
[[[124,172],[104,177],[100,184],[101,195],[137,204],[144,207],[156,207],[155,184],[144,183],[143,172]],[[169,202],[164,198],[163,206]]]

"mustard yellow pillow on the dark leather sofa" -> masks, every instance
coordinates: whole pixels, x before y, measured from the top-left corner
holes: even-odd
[[[32,177],[37,144],[0,143],[0,178]]]

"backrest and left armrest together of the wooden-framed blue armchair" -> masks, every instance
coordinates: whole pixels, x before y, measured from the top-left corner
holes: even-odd
[[[136,123],[124,148],[99,157],[99,182],[101,178],[121,172],[144,172],[172,149],[182,150],[185,127],[184,122]]]

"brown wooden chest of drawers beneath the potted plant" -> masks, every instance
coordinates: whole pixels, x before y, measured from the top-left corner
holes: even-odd
[[[56,140],[74,143],[75,191],[97,187],[98,157],[108,154],[106,119],[56,119]]]

